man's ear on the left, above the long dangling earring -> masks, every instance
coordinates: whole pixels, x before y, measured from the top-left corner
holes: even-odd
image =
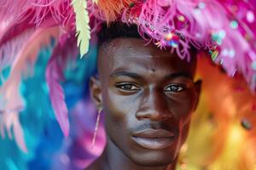
[[[96,77],[90,77],[90,99],[92,99],[97,108],[102,105],[102,87]]]

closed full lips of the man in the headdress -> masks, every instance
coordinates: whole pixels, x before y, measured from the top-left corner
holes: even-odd
[[[175,133],[164,129],[145,129],[135,133],[132,139],[143,148],[161,150],[169,147],[176,136]]]

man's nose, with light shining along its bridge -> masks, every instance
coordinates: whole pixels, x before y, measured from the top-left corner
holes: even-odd
[[[148,89],[143,93],[136,113],[137,120],[163,121],[172,117],[165,94],[160,89]]]

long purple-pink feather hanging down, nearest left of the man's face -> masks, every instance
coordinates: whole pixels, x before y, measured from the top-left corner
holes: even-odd
[[[64,79],[63,71],[67,65],[67,59],[75,59],[77,56],[78,50],[73,37],[68,38],[67,35],[61,37],[62,42],[60,41],[55,47],[46,68],[46,82],[49,86],[49,97],[55,111],[56,119],[60,123],[65,137],[69,133],[69,122],[65,95],[60,82]]]

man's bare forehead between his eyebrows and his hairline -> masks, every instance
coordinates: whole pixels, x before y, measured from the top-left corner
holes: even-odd
[[[125,70],[137,73],[147,71],[175,72],[182,71],[194,75],[195,63],[180,59],[170,50],[160,50],[153,44],[145,45],[138,38],[117,38],[99,50],[98,66],[100,72],[111,74]]]

